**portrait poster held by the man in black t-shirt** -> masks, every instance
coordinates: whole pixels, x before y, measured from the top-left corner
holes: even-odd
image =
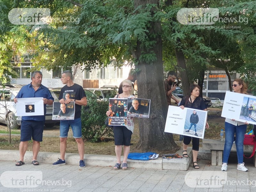
[[[53,102],[52,120],[74,120],[75,102],[68,104]]]

